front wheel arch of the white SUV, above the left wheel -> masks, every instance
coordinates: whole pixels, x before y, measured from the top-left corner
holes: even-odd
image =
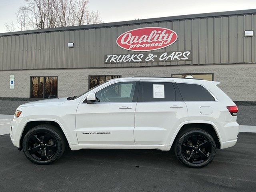
[[[63,134],[63,136],[65,137],[66,143],[70,144],[70,140],[66,134],[66,132],[63,131],[62,127],[60,126],[59,122],[55,122],[53,120],[37,120],[37,121],[30,121],[26,123],[26,126],[23,129],[23,132],[21,134],[21,138],[20,138],[20,148],[18,148],[19,150],[22,150],[22,142],[24,139],[24,136],[26,135],[26,133],[32,129],[35,126],[38,125],[52,125],[54,127],[56,127],[58,130],[60,130]]]

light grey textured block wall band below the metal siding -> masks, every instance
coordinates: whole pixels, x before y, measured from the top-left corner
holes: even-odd
[[[88,90],[89,75],[166,76],[180,73],[214,73],[214,81],[234,101],[256,101],[256,64],[166,66],[143,68],[0,71],[1,97],[30,97],[30,76],[58,76],[58,97]],[[14,75],[14,89],[10,89]]]

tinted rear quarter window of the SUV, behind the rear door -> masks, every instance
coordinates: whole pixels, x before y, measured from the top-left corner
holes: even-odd
[[[214,97],[201,85],[177,83],[184,101],[215,101]]]

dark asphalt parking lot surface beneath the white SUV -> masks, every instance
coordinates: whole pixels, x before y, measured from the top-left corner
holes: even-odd
[[[0,136],[1,192],[253,192],[256,134],[240,133],[237,144],[217,150],[201,169],[180,164],[159,150],[67,149],[58,162],[32,164],[9,134]]]

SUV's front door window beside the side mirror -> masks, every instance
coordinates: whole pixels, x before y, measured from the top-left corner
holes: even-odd
[[[136,82],[116,83],[96,93],[98,102],[132,102],[136,99]]]

